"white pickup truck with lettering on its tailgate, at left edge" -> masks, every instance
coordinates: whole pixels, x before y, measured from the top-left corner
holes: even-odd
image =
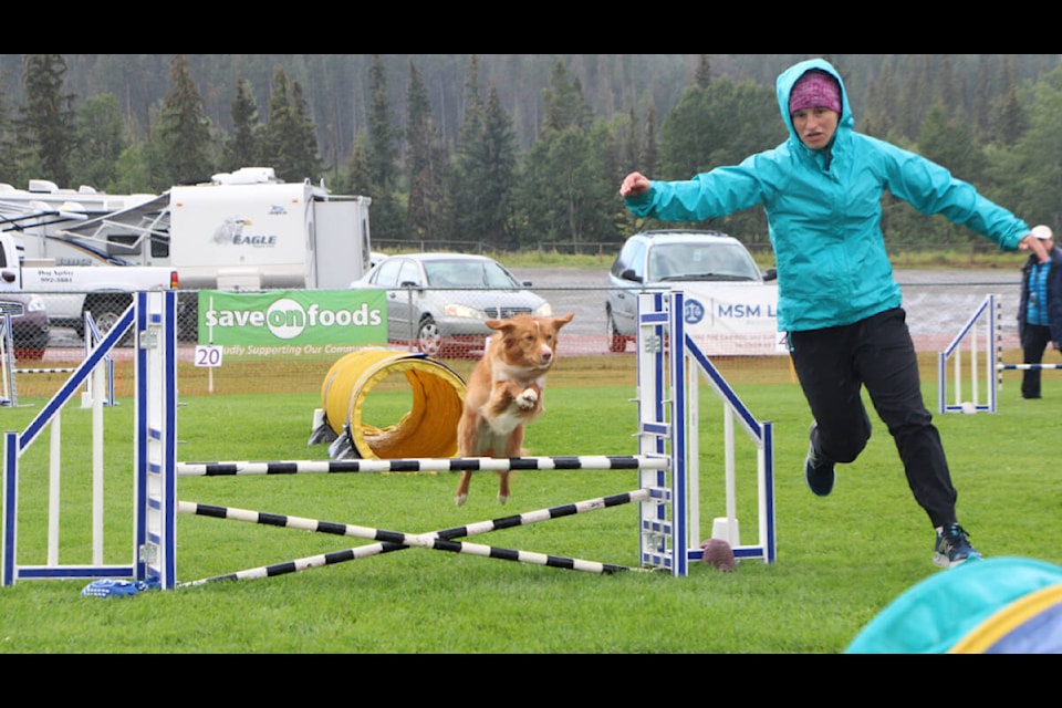
[[[84,335],[85,312],[106,332],[133,301],[132,293],[177,290],[179,284],[171,268],[56,266],[48,259],[27,259],[12,235],[0,233],[0,290],[40,294],[49,323],[73,327],[79,335]]]

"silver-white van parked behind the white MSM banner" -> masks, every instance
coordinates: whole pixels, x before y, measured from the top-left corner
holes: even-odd
[[[738,239],[719,231],[643,231],[626,240],[608,271],[605,321],[608,348],[623,352],[637,336],[638,293],[654,288],[681,289],[683,283],[762,285],[778,277],[761,271]]]

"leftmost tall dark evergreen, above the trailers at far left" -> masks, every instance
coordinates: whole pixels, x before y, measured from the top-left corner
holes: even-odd
[[[22,158],[40,170],[37,177],[65,187],[70,156],[76,148],[74,95],[63,93],[66,60],[62,54],[24,54],[22,86],[25,105],[18,123]]]

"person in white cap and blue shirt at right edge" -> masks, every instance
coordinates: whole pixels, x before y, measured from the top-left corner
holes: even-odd
[[[1018,336],[1022,361],[1040,364],[1049,343],[1054,342],[1056,351],[1062,348],[1062,249],[1054,244],[1050,227],[1038,226],[1032,235],[1040,239],[1051,258],[1041,262],[1030,256],[1021,267]],[[1040,398],[1039,368],[1022,371],[1021,397]]]

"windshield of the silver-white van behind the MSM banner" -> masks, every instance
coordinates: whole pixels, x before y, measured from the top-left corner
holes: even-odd
[[[756,261],[739,243],[658,243],[649,251],[647,282],[759,279]]]

